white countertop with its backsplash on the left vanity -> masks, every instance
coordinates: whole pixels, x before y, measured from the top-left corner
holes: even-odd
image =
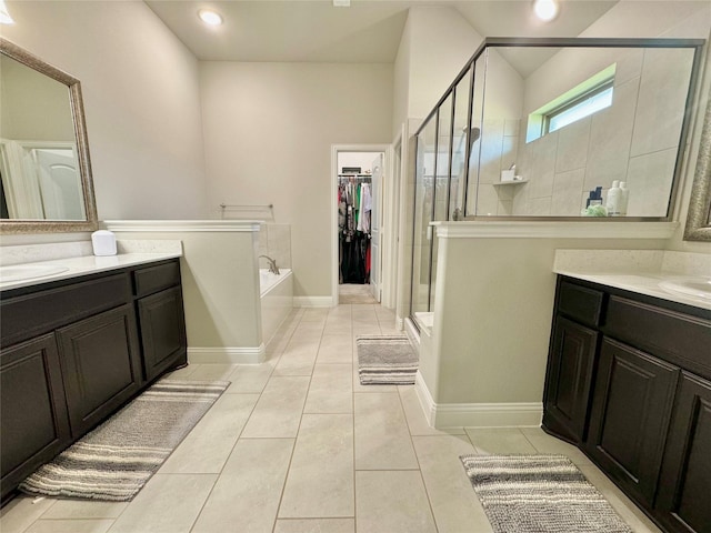
[[[182,257],[180,241],[162,240],[150,242],[119,241],[117,255],[94,257],[91,242],[79,241],[58,244],[33,244],[26,247],[2,247],[2,266],[63,266],[62,272],[28,278],[17,281],[2,281],[0,291],[49,283],[81,275],[108,272],[143,263]]]

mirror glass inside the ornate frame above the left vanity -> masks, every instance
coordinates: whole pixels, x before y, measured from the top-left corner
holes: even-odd
[[[0,56],[1,218],[87,220],[69,88]]]

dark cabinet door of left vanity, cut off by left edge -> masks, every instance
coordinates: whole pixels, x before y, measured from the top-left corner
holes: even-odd
[[[2,499],[70,442],[54,334],[10,346],[0,356]]]

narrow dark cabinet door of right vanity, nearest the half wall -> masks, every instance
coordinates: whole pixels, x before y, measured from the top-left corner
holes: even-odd
[[[555,320],[545,376],[543,426],[574,443],[583,439],[598,332]]]

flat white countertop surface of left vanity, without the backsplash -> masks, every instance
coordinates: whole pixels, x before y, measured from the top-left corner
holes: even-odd
[[[36,261],[32,265],[61,265],[68,270],[58,274],[43,275],[39,278],[30,278],[18,281],[0,282],[0,291],[7,291],[10,289],[18,289],[21,286],[39,285],[42,283],[49,283],[51,281],[68,280],[80,275],[94,274],[98,272],[108,272],[111,270],[123,269],[126,266],[133,266],[137,264],[152,263],[156,261],[163,261],[166,259],[180,258],[181,252],[131,252],[119,253],[117,255],[83,255],[79,258],[64,258],[56,259],[51,261]]]

